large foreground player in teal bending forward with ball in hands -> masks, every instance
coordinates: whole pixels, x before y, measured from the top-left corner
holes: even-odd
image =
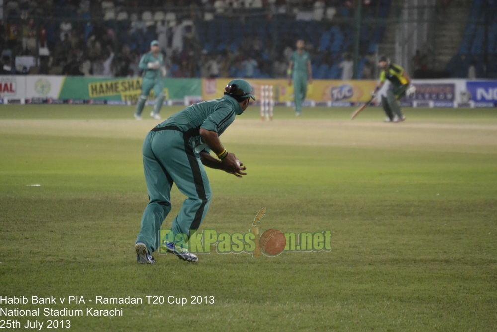
[[[190,230],[198,229],[209,208],[212,193],[204,165],[238,177],[246,175],[246,167],[226,151],[219,136],[245,111],[250,98],[255,100],[251,85],[245,80],[232,80],[223,97],[188,106],[147,134],[142,151],[149,203],[135,244],[138,263],[155,262],[151,253],[161,245],[159,231],[171,211],[173,183],[187,196],[171,226],[179,242],[177,235],[189,235]],[[174,242],[167,244],[167,250],[186,261],[198,259]]]

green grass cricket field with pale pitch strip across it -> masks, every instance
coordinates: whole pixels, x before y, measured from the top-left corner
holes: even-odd
[[[267,207],[261,232],[330,230],[331,251],[214,252],[196,264],[155,254],[149,266],[136,263],[134,241],[147,204],[141,146],[156,122],[133,111],[0,107],[0,296],[29,298],[0,308],[42,311],[0,320],[68,320],[71,331],[497,331],[497,110],[405,109],[406,122],[385,124],[379,108],[354,121],[352,109],[295,118],[276,108],[261,122],[252,107],[221,136],[248,175],[208,170],[201,230],[248,232]],[[176,188],[172,198],[165,228],[184,199]]]

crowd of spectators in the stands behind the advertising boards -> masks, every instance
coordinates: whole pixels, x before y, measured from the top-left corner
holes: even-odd
[[[1,0],[0,0],[1,3]],[[268,21],[352,15],[352,0],[4,0],[0,74],[136,77],[138,62],[159,40],[168,77],[286,77],[297,34],[241,35],[206,49],[199,30],[220,17]],[[374,1],[365,0],[373,5]],[[0,4],[1,5],[1,4]],[[336,12],[325,8],[344,8]],[[311,16],[306,16],[310,13]],[[326,15],[325,15],[326,14]],[[325,17],[326,18],[326,17]],[[277,39],[277,42],[275,42]],[[350,49],[330,52],[306,40],[313,62],[353,67]],[[367,61],[366,61],[367,62]],[[368,75],[369,64],[363,73]]]

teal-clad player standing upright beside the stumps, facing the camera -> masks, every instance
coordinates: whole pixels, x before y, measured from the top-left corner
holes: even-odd
[[[302,115],[302,102],[306,98],[307,84],[312,84],[311,56],[304,50],[304,41],[297,40],[297,50],[292,53],[288,66],[288,85],[292,85],[295,100],[295,115]]]

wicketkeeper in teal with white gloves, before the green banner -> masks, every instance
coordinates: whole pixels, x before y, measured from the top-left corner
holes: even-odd
[[[138,67],[143,70],[143,81],[142,94],[136,104],[135,119],[142,119],[143,107],[145,106],[150,90],[154,89],[156,100],[150,116],[156,120],[160,120],[161,116],[159,112],[165,98],[162,77],[166,76],[166,68],[163,64],[162,54],[159,52],[159,42],[157,40],[150,43],[150,52],[142,56]]]

